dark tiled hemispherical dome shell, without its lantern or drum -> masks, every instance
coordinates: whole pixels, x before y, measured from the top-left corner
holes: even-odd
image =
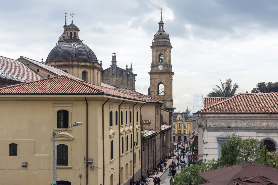
[[[69,25],[70,26],[70,25]],[[74,25],[75,26],[75,25]],[[45,62],[72,61],[98,62],[95,53],[81,41],[64,41],[55,46]]]

